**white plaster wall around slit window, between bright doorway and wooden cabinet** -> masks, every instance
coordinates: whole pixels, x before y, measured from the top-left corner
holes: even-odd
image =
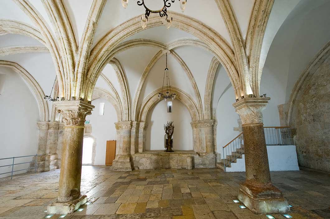
[[[104,104],[104,115],[99,115],[100,103]],[[105,165],[105,153],[107,141],[116,140],[116,128],[117,121],[116,110],[108,100],[98,98],[92,101],[92,105],[95,106],[92,114],[86,116],[86,120],[90,120],[92,125],[91,135],[96,139],[96,150],[94,165]]]

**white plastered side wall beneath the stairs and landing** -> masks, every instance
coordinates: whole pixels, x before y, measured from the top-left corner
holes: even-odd
[[[299,170],[296,146],[267,146],[267,153],[270,171]],[[231,163],[231,167],[226,167],[226,171],[245,172],[245,155],[236,163]]]

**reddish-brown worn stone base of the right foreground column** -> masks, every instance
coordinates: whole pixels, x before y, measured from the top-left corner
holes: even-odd
[[[238,199],[251,211],[264,213],[285,213],[290,207],[281,191],[274,185],[256,186],[244,182],[240,185]]]

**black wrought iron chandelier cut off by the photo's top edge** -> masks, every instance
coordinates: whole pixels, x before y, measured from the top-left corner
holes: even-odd
[[[147,21],[148,21],[148,17],[150,15],[150,13],[155,13],[155,14],[158,14],[159,13],[159,16],[160,17],[166,17],[165,18],[166,27],[167,27],[167,29],[170,28],[171,25],[172,25],[173,18],[172,17],[169,17],[167,15],[167,8],[171,7],[172,3],[174,3],[175,0],[157,0],[157,1],[163,1],[164,2],[164,5],[159,10],[151,10],[151,9],[149,9],[146,6],[145,1],[146,0],[137,0],[137,4],[139,6],[142,6],[143,5],[143,7],[145,7],[145,9],[146,9],[146,14],[144,14],[144,15],[141,16],[141,26],[143,28],[146,28],[147,27]],[[152,1],[155,1],[155,0],[152,0]],[[179,2],[180,2],[180,8],[181,8],[181,10],[182,10],[182,12],[184,12],[184,8],[186,6],[187,0],[179,0]],[[127,5],[128,5],[128,0],[121,0],[121,4],[126,9],[127,8]]]

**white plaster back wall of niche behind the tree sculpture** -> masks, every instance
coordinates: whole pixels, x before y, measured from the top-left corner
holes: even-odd
[[[193,150],[191,117],[180,100],[173,101],[172,113],[167,113],[167,102],[158,102],[149,112],[146,150],[164,150],[164,124],[174,121],[173,150]]]

